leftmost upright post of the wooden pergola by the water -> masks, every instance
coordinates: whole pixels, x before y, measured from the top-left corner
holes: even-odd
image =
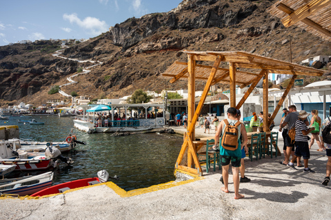
[[[192,124],[195,112],[195,61],[188,55],[188,126]],[[195,124],[194,124],[195,125]],[[190,140],[195,140],[195,132],[190,133]],[[192,167],[192,152],[188,151],[188,167]]]

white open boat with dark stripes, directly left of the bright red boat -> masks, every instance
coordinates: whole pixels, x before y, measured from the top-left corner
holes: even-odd
[[[0,194],[17,194],[19,196],[31,195],[52,185],[53,173],[28,176],[20,180],[6,179],[0,181]]]

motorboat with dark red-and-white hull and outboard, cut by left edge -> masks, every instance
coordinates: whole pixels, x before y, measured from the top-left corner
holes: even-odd
[[[60,161],[73,164],[72,159],[63,157],[59,149],[50,146],[44,153],[20,150],[18,139],[0,141],[0,164],[16,165],[16,170],[46,170],[56,168]]]

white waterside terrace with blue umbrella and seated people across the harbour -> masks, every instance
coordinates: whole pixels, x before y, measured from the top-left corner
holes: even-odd
[[[134,117],[132,109],[138,109],[137,117]],[[147,131],[150,129],[161,128],[165,125],[165,114],[163,114],[164,104],[146,103],[146,104],[99,104],[88,109],[86,115],[77,117],[74,120],[74,127],[88,133],[108,133],[108,132],[134,132]],[[102,122],[97,121],[96,112],[111,113],[110,118]],[[116,112],[115,112],[116,111]],[[130,111],[130,113],[129,113]],[[159,111],[159,117],[157,117]],[[93,113],[93,115],[88,115]],[[114,118],[115,113],[122,114],[122,118]],[[142,116],[144,115],[144,116]],[[154,115],[148,117],[148,115]]]

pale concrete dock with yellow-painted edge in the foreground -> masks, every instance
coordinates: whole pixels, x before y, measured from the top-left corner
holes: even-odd
[[[197,137],[205,136],[203,131],[197,128]],[[214,129],[209,136],[214,137]],[[279,164],[283,155],[246,158],[245,175],[252,181],[240,184],[245,198],[239,200],[231,173],[230,193],[221,191],[217,168],[203,177],[129,192],[108,183],[42,199],[1,199],[0,219],[330,219],[330,186],[321,185],[328,157],[317,149],[315,143],[309,161],[314,174]]]

